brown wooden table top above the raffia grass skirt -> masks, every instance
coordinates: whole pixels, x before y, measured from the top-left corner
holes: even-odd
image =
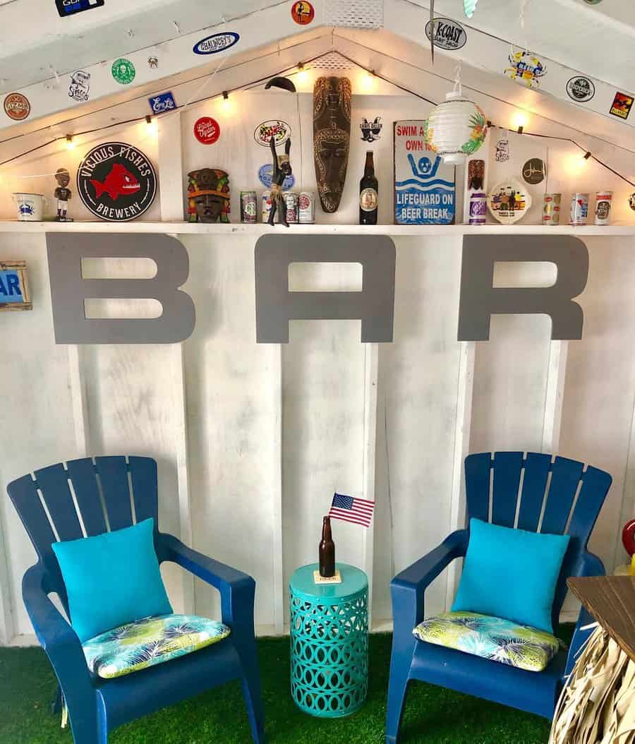
[[[635,661],[635,577],[572,577],[567,584],[613,641]]]

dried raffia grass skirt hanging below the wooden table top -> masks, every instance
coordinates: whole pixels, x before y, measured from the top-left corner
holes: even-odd
[[[635,744],[635,661],[601,626],[562,690],[549,744]]]

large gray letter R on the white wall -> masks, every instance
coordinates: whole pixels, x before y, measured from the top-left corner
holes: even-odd
[[[555,284],[494,288],[497,261],[555,263]],[[589,275],[587,246],[572,235],[466,235],[463,238],[459,341],[489,340],[491,315],[544,313],[551,316],[551,338],[581,339],[584,315],[573,298]]]

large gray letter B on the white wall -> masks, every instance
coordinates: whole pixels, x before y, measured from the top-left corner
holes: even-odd
[[[46,235],[57,344],[173,344],[194,330],[194,303],[178,287],[187,280],[185,246],[168,235]],[[83,258],[151,258],[152,279],[83,279]],[[161,302],[159,318],[86,318],[88,298],[151,298]]]

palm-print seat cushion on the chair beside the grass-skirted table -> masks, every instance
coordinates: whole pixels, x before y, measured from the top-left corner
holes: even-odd
[[[500,661],[528,672],[544,670],[560,647],[558,638],[544,630],[476,612],[445,612],[419,623],[413,633],[428,644]]]

